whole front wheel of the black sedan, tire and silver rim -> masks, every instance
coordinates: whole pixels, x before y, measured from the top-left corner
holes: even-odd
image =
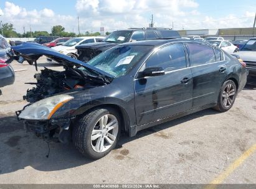
[[[115,148],[119,127],[120,116],[115,109],[95,109],[75,124],[73,142],[86,157],[100,159]]]

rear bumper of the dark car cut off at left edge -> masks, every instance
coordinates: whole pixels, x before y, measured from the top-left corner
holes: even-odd
[[[14,70],[11,65],[0,68],[0,87],[12,85],[15,81]]]

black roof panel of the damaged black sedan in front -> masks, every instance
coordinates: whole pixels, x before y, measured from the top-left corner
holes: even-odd
[[[207,44],[207,42],[201,42],[201,41],[196,41],[196,40],[191,40],[191,39],[154,39],[154,40],[141,40],[137,42],[128,42],[125,44],[119,44],[118,46],[121,45],[145,45],[145,46],[161,46],[164,44],[169,44],[171,42],[196,42],[200,44]]]

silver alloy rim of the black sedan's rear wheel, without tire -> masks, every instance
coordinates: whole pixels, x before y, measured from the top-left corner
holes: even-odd
[[[235,99],[235,87],[232,84],[225,86],[222,92],[222,103],[225,108],[229,108]]]

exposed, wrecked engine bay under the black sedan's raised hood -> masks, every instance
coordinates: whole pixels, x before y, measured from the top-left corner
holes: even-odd
[[[27,90],[27,94],[23,96],[23,99],[30,103],[35,103],[57,93],[85,90],[106,84],[101,78],[85,75],[79,68],[69,67],[66,67],[64,71],[44,68],[41,73],[36,73],[34,78],[37,81],[36,83],[26,84],[36,85],[36,87]]]

